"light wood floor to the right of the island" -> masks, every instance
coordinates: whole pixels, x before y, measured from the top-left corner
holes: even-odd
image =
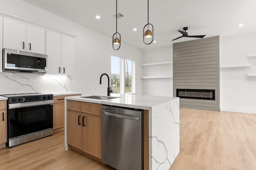
[[[180,109],[170,170],[256,170],[256,114]]]

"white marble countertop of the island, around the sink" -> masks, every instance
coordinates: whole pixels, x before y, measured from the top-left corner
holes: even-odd
[[[90,96],[90,95],[83,95]],[[65,97],[66,100],[82,101],[89,103],[98,103],[104,105],[130,107],[135,109],[146,109],[151,110],[152,107],[166,103],[168,101],[176,100],[177,97],[162,97],[162,96],[146,96],[146,95],[135,95],[126,94],[121,95],[120,98],[99,100],[99,99],[88,99],[77,96]]]

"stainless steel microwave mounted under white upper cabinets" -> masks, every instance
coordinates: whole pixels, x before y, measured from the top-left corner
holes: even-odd
[[[47,55],[4,48],[3,71],[46,73]]]

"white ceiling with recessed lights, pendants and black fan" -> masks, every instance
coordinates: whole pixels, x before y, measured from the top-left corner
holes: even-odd
[[[116,32],[115,0],[23,0],[82,26],[112,37]],[[117,31],[122,42],[140,49],[194,40],[180,38],[177,30],[188,27],[189,35],[226,36],[255,32],[256,0],[149,0],[149,23],[156,43],[143,43],[147,24],[147,0],[118,0]],[[101,18],[96,19],[99,15]],[[239,24],[243,27],[238,27]],[[137,28],[134,32],[133,28]]]

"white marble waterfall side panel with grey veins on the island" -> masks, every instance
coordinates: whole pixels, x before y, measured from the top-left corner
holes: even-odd
[[[168,170],[180,152],[179,98],[152,107],[151,116],[149,162],[152,162],[152,170]]]

